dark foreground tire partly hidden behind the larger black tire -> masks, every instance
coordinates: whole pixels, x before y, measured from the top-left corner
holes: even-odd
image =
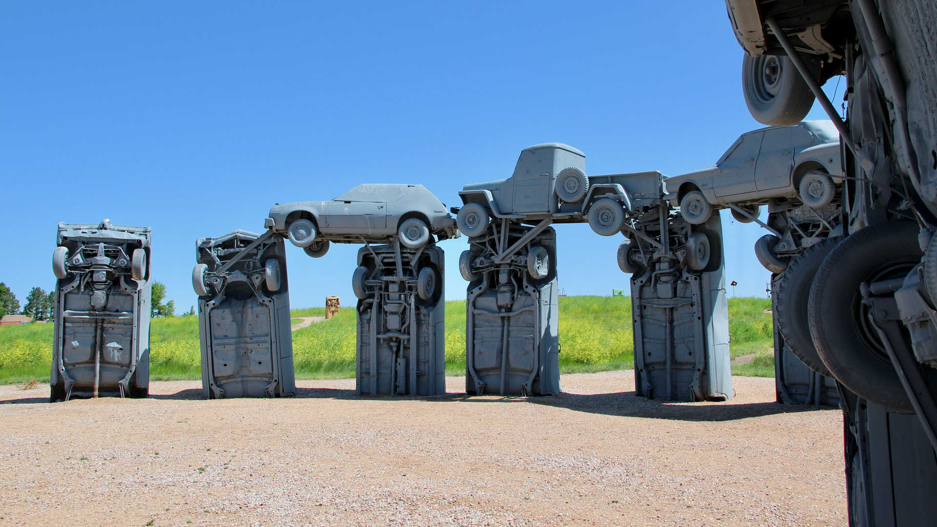
[[[778,326],[781,336],[791,352],[807,365],[807,368],[829,376],[829,369],[817,353],[816,346],[811,338],[811,325],[807,317],[807,306],[810,303],[813,277],[817,274],[820,264],[823,264],[826,255],[842,238],[826,238],[812,245],[800,253],[781,277],[778,288],[778,300],[775,313],[778,315]]]

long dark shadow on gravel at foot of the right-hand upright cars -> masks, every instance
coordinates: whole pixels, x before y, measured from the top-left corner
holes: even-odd
[[[634,392],[593,395],[564,393],[556,397],[530,398],[528,401],[534,404],[558,406],[589,414],[674,419],[678,421],[732,421],[763,415],[839,410],[835,406],[791,405],[778,404],[777,402],[741,404],[734,404],[731,400],[710,404],[669,402],[657,399],[648,400],[636,396]]]

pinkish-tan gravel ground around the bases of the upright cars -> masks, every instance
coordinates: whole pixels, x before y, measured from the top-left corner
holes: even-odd
[[[0,386],[0,525],[846,525],[839,410],[635,397],[632,371],[564,375],[555,398],[47,404]]]

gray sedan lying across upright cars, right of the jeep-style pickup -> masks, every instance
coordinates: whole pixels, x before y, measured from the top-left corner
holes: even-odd
[[[666,178],[666,199],[695,224],[728,203],[745,205],[750,214],[770,198],[822,207],[842,182],[840,166],[840,135],[830,121],[759,128],[742,134],[714,165]],[[733,216],[751,221],[735,208]]]

